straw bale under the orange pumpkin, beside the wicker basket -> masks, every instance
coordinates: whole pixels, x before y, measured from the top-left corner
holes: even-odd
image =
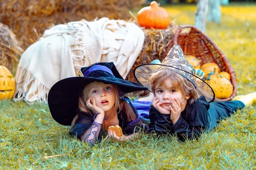
[[[135,21],[133,21],[133,23],[137,24]],[[126,77],[127,80],[137,82],[133,75],[133,71],[138,65],[150,63],[154,59],[160,59],[160,61],[163,61],[163,59],[166,57],[166,47],[171,42],[177,28],[178,26],[174,21],[172,21],[172,23],[166,29],[141,28],[145,33],[144,45],[139,57],[134,63],[134,66]],[[138,93],[143,96],[147,94],[147,91],[134,92],[131,93],[130,96],[134,96]]]

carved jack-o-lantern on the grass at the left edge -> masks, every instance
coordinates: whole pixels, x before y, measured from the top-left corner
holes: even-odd
[[[0,100],[12,99],[15,93],[15,79],[12,73],[0,65]]]

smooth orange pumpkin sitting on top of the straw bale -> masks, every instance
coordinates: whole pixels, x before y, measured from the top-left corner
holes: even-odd
[[[159,7],[158,3],[153,1],[150,6],[144,7],[138,12],[137,22],[142,27],[165,29],[171,23],[171,18],[164,8]]]

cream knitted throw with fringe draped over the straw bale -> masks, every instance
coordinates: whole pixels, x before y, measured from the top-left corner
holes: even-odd
[[[95,62],[114,62],[125,78],[140,54],[144,38],[138,26],[123,20],[102,18],[54,26],[22,54],[14,100],[46,103],[55,82],[75,77],[81,67]]]

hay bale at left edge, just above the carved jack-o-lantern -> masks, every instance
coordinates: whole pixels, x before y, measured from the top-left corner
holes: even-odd
[[[23,53],[20,42],[10,28],[0,23],[0,65],[5,66],[10,71],[18,63],[18,59]]]

